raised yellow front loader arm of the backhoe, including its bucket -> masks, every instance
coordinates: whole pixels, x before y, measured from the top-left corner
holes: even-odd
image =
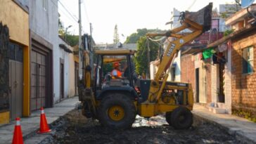
[[[164,55],[162,56],[162,61],[158,67],[158,71],[155,74],[153,81],[151,81],[151,86],[149,90],[148,102],[157,102],[162,94],[162,90],[165,88],[165,83],[167,81],[168,74],[166,74],[167,69],[172,65],[172,61],[175,58],[176,53],[180,50],[184,44],[189,41],[193,41],[196,37],[200,36],[203,32],[210,30],[211,18],[212,18],[212,3],[205,8],[202,8],[198,12],[188,12],[181,14],[182,25],[175,28],[174,30],[169,30],[164,34],[146,34],[147,37],[175,37],[176,40],[170,41]],[[189,29],[192,32],[188,34],[180,34],[182,30]]]

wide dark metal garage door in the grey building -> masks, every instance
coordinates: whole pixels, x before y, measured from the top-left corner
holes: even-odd
[[[32,51],[31,53],[31,110],[46,106],[46,55]]]

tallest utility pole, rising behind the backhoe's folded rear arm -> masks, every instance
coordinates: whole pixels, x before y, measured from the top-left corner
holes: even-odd
[[[83,58],[82,58],[82,25],[81,25],[81,0],[78,0],[78,13],[79,13],[79,42],[78,42],[78,55],[79,55],[79,80],[82,80],[82,73],[83,73]]]

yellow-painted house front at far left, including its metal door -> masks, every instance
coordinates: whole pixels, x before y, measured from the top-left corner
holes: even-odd
[[[30,30],[23,4],[0,3],[0,124],[6,124],[30,115]]]

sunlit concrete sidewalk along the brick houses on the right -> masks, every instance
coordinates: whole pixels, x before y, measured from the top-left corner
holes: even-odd
[[[256,123],[250,122],[248,119],[231,114],[215,114],[199,104],[194,104],[192,112],[194,116],[201,117],[207,120],[207,122],[224,128],[229,134],[235,136],[236,139],[241,140],[243,143],[256,143]]]

